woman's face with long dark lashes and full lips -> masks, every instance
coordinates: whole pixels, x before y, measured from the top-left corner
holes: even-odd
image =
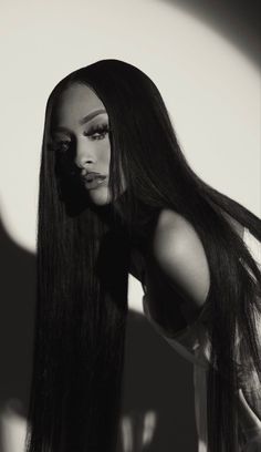
[[[55,104],[52,131],[55,152],[71,153],[72,165],[95,205],[111,202],[108,115],[100,97],[86,85],[67,88]]]

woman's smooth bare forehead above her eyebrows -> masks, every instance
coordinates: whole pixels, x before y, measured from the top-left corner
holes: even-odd
[[[90,86],[75,83],[59,95],[53,109],[55,122],[66,125],[79,122],[95,110],[105,110],[105,106]]]

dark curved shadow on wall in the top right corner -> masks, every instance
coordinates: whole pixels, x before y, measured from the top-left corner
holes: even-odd
[[[261,65],[261,2],[259,0],[160,0],[206,22]]]

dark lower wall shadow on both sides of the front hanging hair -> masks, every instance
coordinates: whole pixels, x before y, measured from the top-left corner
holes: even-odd
[[[32,369],[35,256],[15,245],[2,225],[0,244],[0,452],[22,452]],[[121,452],[196,451],[192,366],[134,311],[127,323],[122,434]]]

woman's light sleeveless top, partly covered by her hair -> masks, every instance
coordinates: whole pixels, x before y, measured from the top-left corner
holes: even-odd
[[[258,264],[259,268],[261,269],[261,243],[249,232],[248,228],[244,228],[243,230],[243,242],[247,245],[252,257],[254,258],[255,263]],[[149,314],[146,290],[143,297],[143,309],[146,318],[157,330],[157,332],[163,336],[164,339],[166,339],[167,342],[178,353],[180,353],[185,359],[189,360],[194,364],[195,415],[198,431],[198,452],[207,452],[207,369],[209,366],[208,359],[210,357],[210,343],[206,333],[206,329],[203,327],[203,322],[201,321],[202,316],[205,315],[205,310],[202,309],[200,311],[196,321],[188,325],[185,329],[179,331],[174,337],[169,338],[165,335],[164,329],[152,318]],[[258,321],[260,325],[259,330],[261,342],[261,318],[259,318]],[[239,343],[240,338],[238,338],[236,347]],[[243,357],[243,359],[246,359],[246,357]],[[243,396],[246,400],[248,401],[251,409],[253,409],[254,413],[258,415],[258,419],[261,422],[261,386],[258,376],[254,372],[252,372],[251,374],[248,373],[248,376],[242,378],[242,384],[240,379],[240,388],[243,389]],[[261,435],[261,431],[259,429],[258,433],[255,431],[253,432],[254,438],[255,434]],[[248,435],[248,433],[246,433],[246,435]],[[261,450],[261,438],[259,438],[259,440]],[[257,445],[254,444],[253,448],[254,446]],[[251,445],[249,445],[247,449],[243,449],[243,451],[246,452],[251,452],[251,450],[255,449],[251,449]]]

